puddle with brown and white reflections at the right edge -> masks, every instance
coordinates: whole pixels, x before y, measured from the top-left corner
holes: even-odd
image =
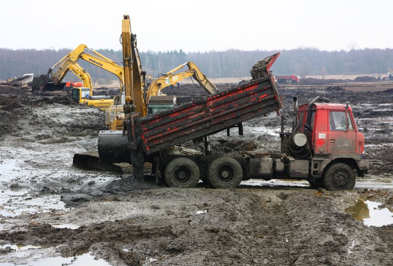
[[[358,199],[356,204],[345,209],[345,212],[363,221],[367,226],[381,227],[393,224],[393,212],[388,208],[379,208],[380,205],[379,202]]]

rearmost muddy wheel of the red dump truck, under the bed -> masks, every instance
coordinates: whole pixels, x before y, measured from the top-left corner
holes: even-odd
[[[199,182],[199,167],[188,158],[175,158],[165,167],[164,178],[168,186],[195,187]]]

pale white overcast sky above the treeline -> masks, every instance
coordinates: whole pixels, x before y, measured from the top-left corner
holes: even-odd
[[[119,50],[129,14],[140,51],[392,48],[393,1],[1,0],[0,48]]]

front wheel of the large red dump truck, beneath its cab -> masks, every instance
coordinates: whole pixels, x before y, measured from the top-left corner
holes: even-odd
[[[323,185],[327,190],[346,190],[355,186],[355,172],[346,163],[334,163],[323,174]]]

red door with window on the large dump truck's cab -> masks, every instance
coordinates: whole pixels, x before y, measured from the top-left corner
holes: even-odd
[[[356,131],[348,111],[329,111],[328,153],[356,153]]]

